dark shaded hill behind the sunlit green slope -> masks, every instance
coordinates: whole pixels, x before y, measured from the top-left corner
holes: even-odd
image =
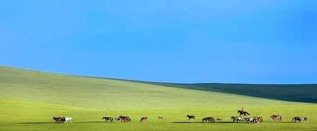
[[[125,79],[117,79],[125,80]],[[317,84],[164,83],[125,80],[159,86],[239,94],[292,102],[317,103]]]

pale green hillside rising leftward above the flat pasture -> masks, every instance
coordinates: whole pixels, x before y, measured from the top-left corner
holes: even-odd
[[[0,97],[95,109],[290,105],[268,99],[0,67]],[[216,101],[210,101],[216,100]],[[243,100],[243,101],[241,101]],[[185,103],[181,103],[185,102]],[[118,106],[120,105],[120,106]]]

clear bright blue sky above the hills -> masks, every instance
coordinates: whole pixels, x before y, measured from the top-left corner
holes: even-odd
[[[317,83],[317,0],[4,0],[0,65],[163,82]]]

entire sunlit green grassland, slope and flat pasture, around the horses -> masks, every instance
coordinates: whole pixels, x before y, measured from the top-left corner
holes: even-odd
[[[231,123],[241,107],[263,123]],[[132,81],[76,77],[0,66],[0,131],[316,131],[317,105]],[[196,116],[188,122],[187,114]],[[281,114],[282,122],[271,122]],[[103,116],[127,115],[131,123],[105,123]],[[308,123],[292,123],[293,116]],[[55,124],[53,116],[70,116],[72,124]],[[147,116],[148,122],[140,118]],[[159,122],[157,116],[166,120]],[[205,116],[222,123],[200,123]]]

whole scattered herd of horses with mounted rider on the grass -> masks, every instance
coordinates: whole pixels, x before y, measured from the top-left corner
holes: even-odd
[[[251,124],[255,124],[255,123],[259,123],[259,122],[263,122],[263,118],[262,117],[246,117],[247,115],[250,115],[250,113],[246,112],[243,110],[238,110],[237,113],[240,113],[240,115],[238,117],[235,116],[231,116],[231,120],[234,122],[247,122],[247,123],[251,123]],[[194,121],[195,120],[195,116],[194,115],[187,115],[186,116],[188,118],[188,121]],[[273,122],[278,122],[278,121],[282,121],[282,116],[281,115],[271,115],[270,117]],[[164,121],[165,118],[164,117],[160,117],[158,116],[157,119],[159,121]],[[53,120],[56,123],[72,123],[73,119],[71,117],[53,117]],[[129,116],[122,116],[120,115],[118,118],[112,118],[112,117],[103,117],[102,120],[104,120],[105,122],[131,122],[131,118]],[[142,117],[140,122],[146,122],[148,120],[147,117]],[[214,123],[214,122],[222,122],[222,119],[220,118],[213,118],[213,117],[204,117],[202,118],[202,122],[204,123]],[[295,116],[292,118],[292,122],[307,122],[307,117],[298,117]]]

